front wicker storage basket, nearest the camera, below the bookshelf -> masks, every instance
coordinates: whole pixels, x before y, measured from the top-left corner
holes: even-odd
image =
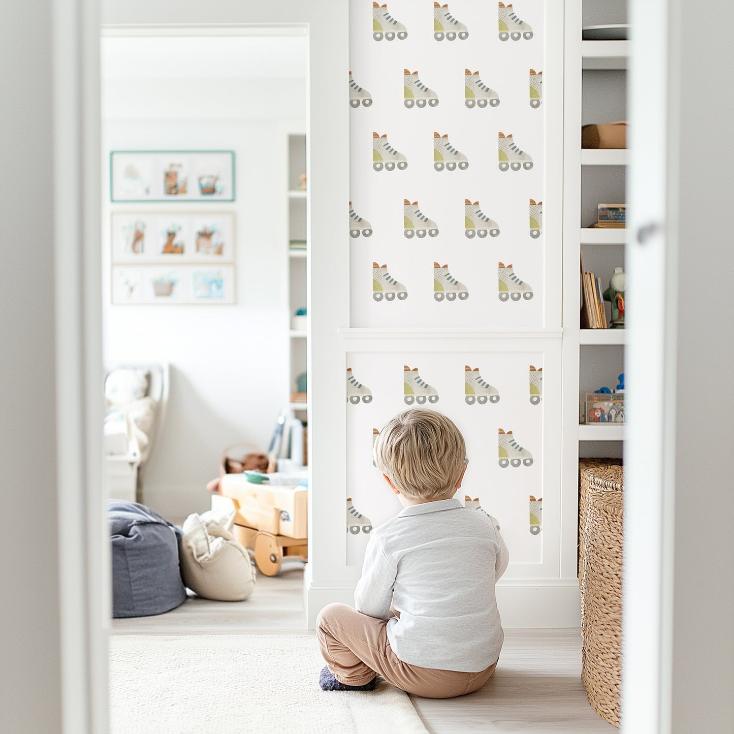
[[[581,682],[592,708],[617,727],[622,640],[622,501],[621,492],[599,492],[589,498],[581,574],[581,590],[586,598],[581,610]]]

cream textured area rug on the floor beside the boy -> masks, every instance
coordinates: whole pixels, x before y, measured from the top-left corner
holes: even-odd
[[[321,691],[313,635],[112,635],[112,734],[427,734],[403,691]]]

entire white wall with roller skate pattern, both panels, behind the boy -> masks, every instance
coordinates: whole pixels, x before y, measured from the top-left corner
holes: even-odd
[[[350,324],[366,331],[345,354],[347,564],[401,509],[372,462],[377,431],[424,405],[465,436],[457,497],[500,526],[506,578],[559,577],[546,12],[540,0],[350,2]]]

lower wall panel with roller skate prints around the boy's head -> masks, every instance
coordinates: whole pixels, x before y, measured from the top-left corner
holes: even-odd
[[[540,564],[542,544],[531,529],[528,497],[542,497],[542,382],[531,388],[537,352],[351,353],[355,379],[370,390],[347,409],[347,475],[355,509],[377,526],[401,505],[372,463],[374,432],[411,406],[448,415],[466,440],[469,465],[459,499],[477,498],[497,518],[514,564]],[[410,369],[406,369],[410,368]],[[542,375],[542,371],[537,374]],[[356,523],[352,523],[355,526]],[[347,562],[360,564],[368,533],[352,531]]]

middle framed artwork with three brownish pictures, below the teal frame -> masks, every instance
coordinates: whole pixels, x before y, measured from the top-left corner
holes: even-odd
[[[234,259],[234,214],[228,212],[115,212],[110,231],[115,265]]]

